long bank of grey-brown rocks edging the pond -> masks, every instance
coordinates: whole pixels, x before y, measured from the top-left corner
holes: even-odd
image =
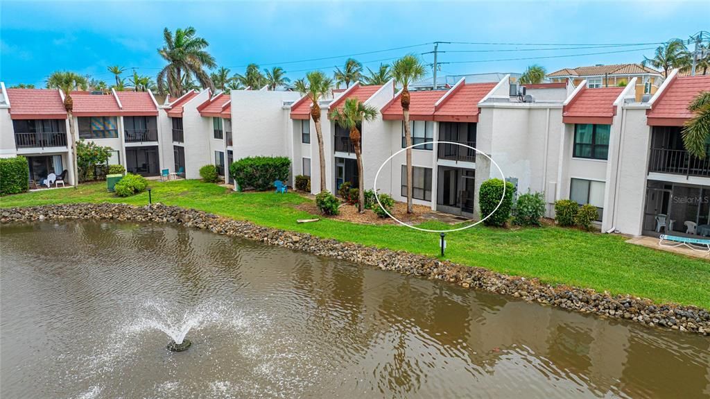
[[[464,288],[476,288],[491,293],[511,295],[542,305],[553,305],[582,313],[594,313],[603,317],[633,320],[650,327],[675,329],[704,336],[710,335],[710,312],[700,307],[657,304],[645,298],[630,295],[609,295],[608,293],[598,293],[596,290],[567,285],[552,286],[540,283],[535,278],[504,275],[485,268],[439,261],[436,258],[405,251],[344,243],[334,239],[321,239],[307,233],[257,226],[251,222],[219,217],[195,209],[163,204],[135,207],[127,204],[104,203],[43,205],[3,209],[0,212],[0,224],[62,219],[175,223],[315,255],[364,263],[383,270],[445,280]]]

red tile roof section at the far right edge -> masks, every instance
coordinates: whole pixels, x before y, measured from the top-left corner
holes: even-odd
[[[688,105],[700,92],[710,91],[710,75],[675,77],[646,111],[650,126],[683,126],[693,117]]]

